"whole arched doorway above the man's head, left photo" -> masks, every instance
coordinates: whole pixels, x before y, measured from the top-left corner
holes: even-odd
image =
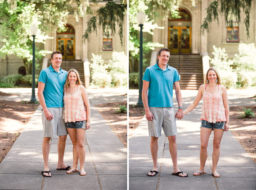
[[[75,30],[67,24],[64,31],[57,31],[57,51],[62,59],[75,59]]]

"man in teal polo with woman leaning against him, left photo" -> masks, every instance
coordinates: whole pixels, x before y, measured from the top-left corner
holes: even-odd
[[[44,127],[43,157],[44,157],[44,177],[51,177],[48,157],[50,140],[59,136],[58,140],[58,165],[57,170],[69,170],[71,166],[64,164],[63,157],[67,139],[67,129],[63,119],[63,89],[67,78],[67,71],[60,68],[62,62],[61,52],[51,54],[52,65],[42,69],[38,79],[38,99],[43,108],[42,121]]]

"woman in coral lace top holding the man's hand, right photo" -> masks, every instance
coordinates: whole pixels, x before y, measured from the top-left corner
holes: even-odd
[[[224,131],[229,128],[229,106],[226,88],[221,85],[218,71],[210,67],[206,73],[205,84],[199,87],[195,101],[183,112],[184,115],[193,110],[203,98],[202,114],[200,120],[200,169],[194,176],[205,174],[205,162],[207,159],[207,146],[210,134],[214,131],[212,151],[212,176],[218,178],[220,174],[216,171],[220,157],[220,141]]]

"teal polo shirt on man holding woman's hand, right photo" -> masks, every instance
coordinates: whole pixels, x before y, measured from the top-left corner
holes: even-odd
[[[174,67],[167,65],[163,71],[156,65],[146,68],[143,80],[149,82],[148,106],[149,107],[173,107],[172,91],[173,83],[180,80],[179,73]]]

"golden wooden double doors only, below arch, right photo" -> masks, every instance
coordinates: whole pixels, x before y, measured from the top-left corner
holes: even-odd
[[[191,53],[191,27],[169,27],[168,48],[170,53]]]

